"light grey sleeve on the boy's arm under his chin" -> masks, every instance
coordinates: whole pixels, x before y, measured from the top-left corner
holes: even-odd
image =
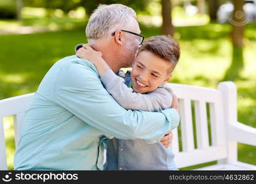
[[[101,81],[107,92],[125,109],[159,111],[170,108],[173,101],[173,94],[168,86],[161,85],[147,94],[135,93],[125,85],[122,77],[118,77],[111,70],[101,77]]]

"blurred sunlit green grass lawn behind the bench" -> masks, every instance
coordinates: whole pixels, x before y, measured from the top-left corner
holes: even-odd
[[[160,34],[157,27],[141,25],[141,29],[145,37]],[[180,42],[181,57],[170,82],[216,88],[231,62],[230,30],[230,25],[217,23],[176,28],[175,37]],[[234,80],[238,86],[238,120],[252,127],[256,127],[255,31],[256,25],[246,26],[245,67],[241,76]],[[48,69],[58,59],[73,55],[76,44],[84,43],[86,39],[81,28],[0,35],[0,42],[0,99],[4,99],[36,91]],[[9,169],[12,169],[15,151],[13,126],[5,123],[5,127]],[[256,165],[256,148],[239,144],[238,159]],[[182,169],[192,168],[195,167]]]

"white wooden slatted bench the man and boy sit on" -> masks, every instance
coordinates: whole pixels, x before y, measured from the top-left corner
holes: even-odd
[[[217,161],[214,166],[200,169],[256,170],[256,166],[238,161],[238,142],[256,146],[256,128],[238,122],[235,83],[221,82],[217,90],[176,83],[170,85],[180,100],[180,131],[173,131],[174,139],[170,147],[176,155],[177,167]],[[0,101],[0,170],[7,169],[3,118],[14,115],[17,145],[23,117],[33,95]]]

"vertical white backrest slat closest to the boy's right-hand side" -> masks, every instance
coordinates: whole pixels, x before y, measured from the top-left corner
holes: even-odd
[[[182,135],[182,151],[192,151],[194,146],[192,110],[189,99],[180,100],[180,126]]]

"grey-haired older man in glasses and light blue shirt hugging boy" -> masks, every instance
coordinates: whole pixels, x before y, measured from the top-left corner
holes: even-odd
[[[89,44],[114,72],[131,66],[142,42],[139,33],[136,13],[121,4],[99,6],[86,28]],[[93,64],[68,56],[47,72],[26,112],[15,170],[102,170],[107,137],[153,143],[177,121],[176,109],[123,109]]]

